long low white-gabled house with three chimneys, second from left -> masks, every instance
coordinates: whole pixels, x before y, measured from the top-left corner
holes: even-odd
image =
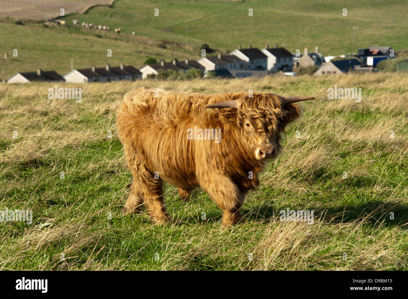
[[[112,67],[106,63],[104,68],[75,69],[64,76],[66,82],[70,83],[91,83],[91,82],[111,82],[120,80],[142,79],[142,73],[132,65],[120,63],[118,67]]]

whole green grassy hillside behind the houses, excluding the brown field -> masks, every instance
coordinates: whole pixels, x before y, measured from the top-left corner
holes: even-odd
[[[154,9],[159,16],[154,16]],[[343,9],[348,16],[343,16]],[[248,16],[253,9],[253,17]],[[55,70],[66,74],[74,68],[102,66],[120,61],[141,67],[146,57],[169,61],[199,59],[200,46],[207,43],[223,52],[238,44],[246,47],[271,47],[278,43],[291,52],[319,46],[324,55],[353,52],[353,26],[357,26],[356,49],[365,46],[391,45],[395,50],[407,48],[408,7],[405,1],[269,1],[244,2],[117,0],[113,7],[94,7],[86,14],[62,17],[67,28],[11,19],[0,22],[0,79],[17,71]],[[29,15],[27,16],[29,17]],[[72,20],[110,26],[111,32],[71,28]],[[188,40],[193,52],[187,52]],[[122,28],[115,34],[114,28]],[[135,31],[136,35],[131,35]],[[176,43],[176,45],[174,45]],[[160,44],[165,49],[158,47]],[[12,57],[13,49],[18,57]],[[107,49],[113,57],[107,57]],[[12,59],[3,60],[4,53]]]

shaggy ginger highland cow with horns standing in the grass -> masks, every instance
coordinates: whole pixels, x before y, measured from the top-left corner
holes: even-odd
[[[133,175],[123,213],[144,205],[153,223],[170,220],[162,190],[166,181],[178,187],[184,200],[202,187],[223,211],[222,227],[234,225],[243,217],[245,195],[259,186],[259,173],[282,150],[285,127],[302,112],[295,102],[311,99],[268,92],[253,92],[252,97],[245,92],[206,95],[146,86],[128,92],[117,112],[120,141]]]

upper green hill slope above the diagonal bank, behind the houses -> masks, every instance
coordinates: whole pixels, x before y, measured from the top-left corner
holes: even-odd
[[[343,9],[348,10],[343,16]],[[159,16],[154,16],[154,10]],[[253,9],[253,17],[248,16]],[[86,15],[66,17],[97,24],[120,26],[124,33],[194,44],[208,43],[234,50],[238,44],[264,47],[266,43],[295,52],[319,46],[326,55],[353,52],[353,26],[357,26],[356,48],[391,45],[406,48],[408,7],[405,1],[277,1],[244,2],[118,0],[112,8],[95,7]],[[170,32],[169,32],[170,31]]]

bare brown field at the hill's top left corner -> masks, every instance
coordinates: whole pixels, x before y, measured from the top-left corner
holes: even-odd
[[[60,17],[60,9],[65,15],[84,13],[96,5],[111,6],[115,0],[80,0],[78,2],[62,0],[0,0],[0,15],[26,20],[48,20]]]

